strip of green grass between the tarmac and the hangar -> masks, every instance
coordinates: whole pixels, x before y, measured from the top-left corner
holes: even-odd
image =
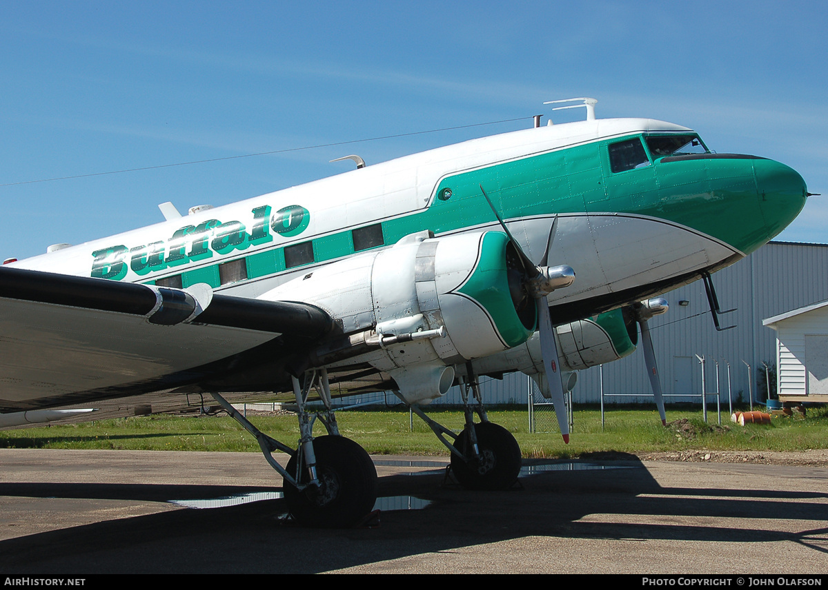
[[[459,431],[462,412],[431,410],[432,418]],[[421,420],[414,418],[411,431],[407,410],[348,411],[337,414],[341,434],[363,445],[369,453],[447,454],[445,447]],[[775,450],[828,448],[828,408],[809,408],[806,420],[774,418],[771,425],[733,425],[715,413],[709,423],[700,410],[667,412],[667,421],[686,419],[687,424],[664,428],[655,410],[613,409],[606,412],[601,429],[598,409],[576,407],[570,444],[556,432],[530,433],[525,410],[490,410],[489,419],[512,432],[526,457],[570,458],[585,453],[649,453],[659,451]],[[296,446],[296,417],[261,416],[251,420],[263,432]],[[546,425],[546,426],[545,426]],[[318,425],[315,434],[323,432]],[[537,414],[537,429],[555,429],[553,413]],[[0,431],[0,448],[123,448],[141,450],[250,451],[258,452],[255,439],[226,416],[142,416],[100,420],[77,425],[53,425]]]

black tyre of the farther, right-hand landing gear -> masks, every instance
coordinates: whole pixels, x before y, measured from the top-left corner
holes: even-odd
[[[479,460],[472,458],[468,429],[464,429],[455,439],[455,448],[466,459],[452,453],[451,472],[469,490],[508,490],[517,481],[522,463],[517,440],[503,426],[491,422],[474,425],[474,433]]]

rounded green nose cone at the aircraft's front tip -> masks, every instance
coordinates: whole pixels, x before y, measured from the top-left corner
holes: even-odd
[[[759,208],[769,237],[776,236],[805,206],[808,189],[797,170],[773,160],[754,160]]]

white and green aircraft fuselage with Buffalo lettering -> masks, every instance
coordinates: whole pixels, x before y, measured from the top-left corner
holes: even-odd
[[[561,321],[736,261],[806,199],[802,177],[776,161],[710,153],[672,123],[598,119],[425,151],[14,264],[258,297],[422,230],[496,229],[481,187],[530,257],[551,236],[549,263],[575,269],[549,300]]]

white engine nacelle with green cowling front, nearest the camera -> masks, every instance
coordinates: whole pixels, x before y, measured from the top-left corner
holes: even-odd
[[[409,402],[445,394],[445,367],[513,348],[535,331],[522,264],[505,233],[403,238],[393,247],[309,271],[263,300],[316,305],[358,334],[320,358],[369,362]],[[354,345],[359,342],[359,346]]]

